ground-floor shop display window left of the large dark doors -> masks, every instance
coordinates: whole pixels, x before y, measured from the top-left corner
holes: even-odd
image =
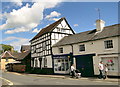
[[[54,59],[54,71],[67,71],[68,69],[68,59]]]

